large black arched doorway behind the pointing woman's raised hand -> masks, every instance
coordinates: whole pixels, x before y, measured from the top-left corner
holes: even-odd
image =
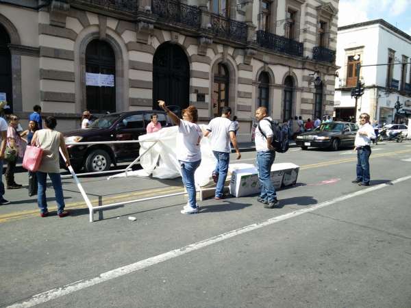
[[[190,64],[182,48],[169,42],[160,45],[153,57],[153,109],[158,109],[158,100],[188,107],[189,87]]]

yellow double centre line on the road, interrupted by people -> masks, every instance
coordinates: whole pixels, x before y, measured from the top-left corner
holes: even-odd
[[[410,153],[411,150],[400,150],[400,151],[393,151],[393,152],[387,152],[387,153],[379,153],[379,154],[374,154],[371,155],[370,159],[375,159],[378,157],[385,157],[385,156],[392,156],[392,155],[397,155],[397,154],[402,154],[402,153]],[[250,158],[251,159],[251,158]],[[250,159],[241,159],[241,160],[250,160]],[[254,160],[254,159],[253,159]],[[321,168],[325,166],[332,166],[336,164],[343,164],[347,162],[356,162],[357,157],[350,157],[350,158],[345,158],[345,159],[336,159],[336,160],[330,160],[327,162],[321,162],[321,163],[316,163],[316,164],[308,164],[300,167],[300,170],[307,170],[311,168]],[[108,201],[128,201],[132,200],[132,196],[141,196],[141,197],[148,197],[148,196],[155,196],[159,193],[169,193],[173,194],[175,192],[180,192],[182,191],[181,186],[166,186],[162,188],[153,188],[152,190],[145,190],[145,191],[138,191],[138,192],[132,192],[129,194],[119,194],[117,196],[112,196],[108,198],[103,198],[103,204]],[[92,200],[93,205],[98,204],[98,200]],[[68,203],[66,205],[66,209],[84,209],[87,208],[86,203],[84,201],[79,201],[76,203]],[[57,210],[57,207],[49,207],[50,211],[55,211]],[[32,218],[38,216],[38,210],[37,209],[32,209],[32,210],[26,210],[26,211],[15,211],[12,213],[8,214],[2,214],[0,215],[0,223],[2,222],[10,222],[14,220],[21,220],[24,218]]]

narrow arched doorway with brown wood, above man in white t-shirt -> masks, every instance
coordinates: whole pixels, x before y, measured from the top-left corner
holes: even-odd
[[[221,116],[221,108],[229,105],[229,73],[225,64],[214,66],[212,86],[212,111],[214,116]]]

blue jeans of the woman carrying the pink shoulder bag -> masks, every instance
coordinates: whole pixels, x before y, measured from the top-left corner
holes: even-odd
[[[47,173],[37,171],[37,203],[40,208],[41,213],[47,213],[47,200],[46,200],[46,189],[47,189]],[[64,211],[64,197],[62,188],[62,178],[60,173],[49,173],[51,183],[53,183],[55,201],[57,202],[57,214],[61,214]]]

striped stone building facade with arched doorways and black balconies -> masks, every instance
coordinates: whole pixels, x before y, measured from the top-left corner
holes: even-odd
[[[171,105],[207,122],[229,105],[250,140],[264,105],[277,120],[332,114],[338,1],[0,2],[0,93],[60,130],[95,114]],[[4,65],[3,65],[4,64]]]

